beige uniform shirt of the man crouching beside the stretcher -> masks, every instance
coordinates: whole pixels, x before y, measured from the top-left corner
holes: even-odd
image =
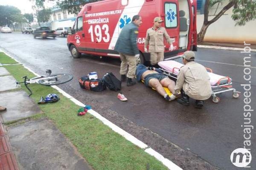
[[[181,88],[189,97],[196,100],[206,100],[212,95],[210,77],[205,67],[197,62],[191,61],[180,68],[175,94]]]

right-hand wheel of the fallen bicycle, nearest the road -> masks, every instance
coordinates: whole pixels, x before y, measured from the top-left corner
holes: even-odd
[[[47,77],[47,79],[41,79],[38,81],[41,85],[60,85],[65,82],[69,82],[73,79],[73,76],[70,74],[51,74]]]

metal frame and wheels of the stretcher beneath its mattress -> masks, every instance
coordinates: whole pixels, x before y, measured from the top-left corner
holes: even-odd
[[[172,71],[167,71],[163,68],[159,68],[161,71],[163,71],[163,74],[167,75],[168,77],[172,77],[174,79],[177,79],[177,74],[175,74],[174,70],[179,70],[180,68],[173,68]],[[206,68],[208,72],[212,73],[212,69]],[[221,80],[227,79],[227,83],[221,84]],[[236,91],[235,88],[232,87],[232,80],[230,77],[223,77],[218,80],[218,82],[215,85],[211,85],[212,87],[212,102],[218,103],[221,99],[216,96],[216,94],[221,94],[227,91],[233,91],[233,98],[238,98],[239,94],[241,92]]]

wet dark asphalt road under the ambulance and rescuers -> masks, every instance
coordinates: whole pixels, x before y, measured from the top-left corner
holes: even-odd
[[[244,89],[241,84],[247,84],[244,80],[244,57],[249,54],[241,54],[240,51],[216,50],[198,48],[196,61],[208,68],[212,68],[216,74],[230,76],[233,79],[233,87],[241,91],[240,97],[234,99],[232,92],[218,94],[221,101],[215,104],[212,98],[205,102],[203,109],[194,108],[194,101],[188,107],[178,104],[176,101],[165,101],[156,91],[146,88],[142,83],[126,87],[122,85],[122,92],[128,98],[128,102],[121,102],[116,98],[117,92],[103,91],[91,92],[79,87],[78,78],[91,71],[97,71],[98,77],[106,72],[113,72],[119,78],[119,59],[82,55],[80,59],[73,59],[67,49],[67,39],[34,39],[31,34],[0,34],[0,49],[11,54],[19,62],[31,68],[38,74],[44,74],[46,69],[52,69],[52,73],[66,72],[73,74],[74,79],[63,85],[59,85],[64,91],[74,96],[86,105],[92,105],[98,113],[110,119],[132,135],[149,144],[151,136],[141,135],[139,130],[128,127],[128,122],[137,127],[142,127],[150,132],[158,134],[168,142],[181,147],[184,152],[191,152],[201,161],[207,161],[211,166],[225,170],[236,170],[230,161],[230,154],[239,147],[244,147]],[[256,53],[251,52],[251,103],[252,109],[256,103]],[[247,59],[248,60],[248,59]],[[248,63],[248,62],[247,62]],[[250,125],[256,125],[255,111],[251,112]],[[129,124],[131,125],[131,124]],[[247,134],[248,135],[248,134]],[[256,156],[256,132],[251,129],[251,149],[253,156],[251,168],[255,169]],[[164,144],[153,147],[160,151],[168,159],[172,150],[164,150]],[[150,145],[151,146],[151,145]],[[175,157],[176,159],[176,157]],[[179,159],[179,158],[177,158]],[[189,159],[189,158],[188,158]],[[179,161],[174,160],[176,164]],[[183,164],[186,164],[183,162]],[[189,163],[188,163],[189,164]],[[197,167],[184,166],[184,169],[197,169]],[[202,169],[202,168],[198,168]],[[205,167],[205,169],[209,169]]]

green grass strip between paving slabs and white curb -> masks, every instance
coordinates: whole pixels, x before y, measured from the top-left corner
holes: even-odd
[[[4,67],[19,82],[25,75],[29,78],[34,77],[22,65],[5,65]],[[24,85],[22,88],[27,91]],[[79,153],[94,170],[147,170],[147,164],[149,164],[149,170],[168,170],[160,161],[115,133],[94,116],[90,114],[77,116],[77,110],[80,107],[54,88],[39,84],[31,84],[29,88],[33,92],[31,98],[35,102],[49,93],[60,96],[61,99],[58,102],[39,105],[39,107],[77,147]]]

